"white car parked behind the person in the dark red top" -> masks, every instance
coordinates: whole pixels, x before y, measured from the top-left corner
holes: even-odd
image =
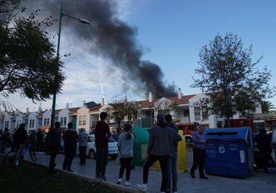
[[[108,138],[108,151],[109,151],[109,157],[111,159],[116,159],[118,157],[118,145],[117,145],[117,142],[112,137]],[[95,152],[96,152],[95,135],[89,135],[88,145],[86,148],[86,155],[91,159],[95,159]]]

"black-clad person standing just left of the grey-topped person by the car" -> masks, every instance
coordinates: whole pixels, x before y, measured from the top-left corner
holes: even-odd
[[[77,148],[77,139],[79,136],[77,135],[77,131],[72,130],[72,122],[67,124],[68,129],[64,132],[62,138],[64,141],[64,162],[63,162],[63,170],[71,171],[72,160],[76,155]]]

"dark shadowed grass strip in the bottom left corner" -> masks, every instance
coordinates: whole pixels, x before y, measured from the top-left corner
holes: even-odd
[[[90,183],[65,173],[48,175],[44,166],[23,162],[19,167],[0,166],[0,192],[101,192],[119,193],[99,183]]]

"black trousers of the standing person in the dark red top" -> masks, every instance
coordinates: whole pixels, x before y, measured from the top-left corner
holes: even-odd
[[[96,176],[105,178],[105,169],[108,162],[108,148],[98,148],[96,150]]]

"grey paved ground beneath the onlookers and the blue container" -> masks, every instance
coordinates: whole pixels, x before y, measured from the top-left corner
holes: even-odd
[[[64,156],[62,154],[56,157],[56,167],[62,169]],[[30,159],[28,156],[26,159]],[[188,166],[192,165],[192,152],[187,151]],[[37,163],[47,166],[49,163],[49,156],[37,154]],[[118,171],[120,164],[118,159],[109,160],[107,164],[106,178],[109,183],[116,183],[118,180]],[[86,165],[79,165],[79,157],[75,157],[72,163],[72,170],[74,173],[94,178],[95,176],[95,160],[86,159]],[[190,173],[178,173],[178,192],[276,192],[276,168],[270,169],[270,174],[263,173],[263,171],[255,171],[254,175],[245,178],[225,178],[220,176],[208,176],[208,180],[197,178],[190,178]],[[57,174],[58,175],[58,174]],[[125,177],[125,176],[124,176]],[[130,181],[132,188],[136,188],[137,184],[142,180],[142,168],[135,167],[132,170]],[[148,176],[148,192],[159,192],[161,184],[161,172],[151,169]]]

